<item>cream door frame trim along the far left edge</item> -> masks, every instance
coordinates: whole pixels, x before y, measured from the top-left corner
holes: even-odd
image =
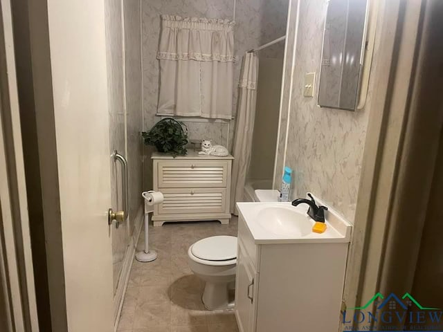
[[[10,331],[39,331],[10,1],[0,2],[0,279]]]

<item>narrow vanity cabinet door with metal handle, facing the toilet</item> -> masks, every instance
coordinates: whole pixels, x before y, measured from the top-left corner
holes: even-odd
[[[255,331],[255,270],[239,242],[235,277],[235,311],[241,332]]]

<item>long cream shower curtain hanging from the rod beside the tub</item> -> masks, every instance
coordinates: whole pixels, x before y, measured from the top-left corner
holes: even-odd
[[[243,201],[244,183],[251,161],[252,138],[257,100],[258,57],[246,53],[243,57],[239,79],[239,98],[237,105],[237,124],[233,147],[233,174],[230,196],[230,212],[237,214],[235,202]]]

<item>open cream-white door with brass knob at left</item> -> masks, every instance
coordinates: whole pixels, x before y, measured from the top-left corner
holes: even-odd
[[[104,0],[48,0],[47,10],[68,330],[110,332],[114,162]]]

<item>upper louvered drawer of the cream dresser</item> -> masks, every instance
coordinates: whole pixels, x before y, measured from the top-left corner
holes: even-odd
[[[156,163],[159,188],[227,186],[230,160],[159,160]]]

